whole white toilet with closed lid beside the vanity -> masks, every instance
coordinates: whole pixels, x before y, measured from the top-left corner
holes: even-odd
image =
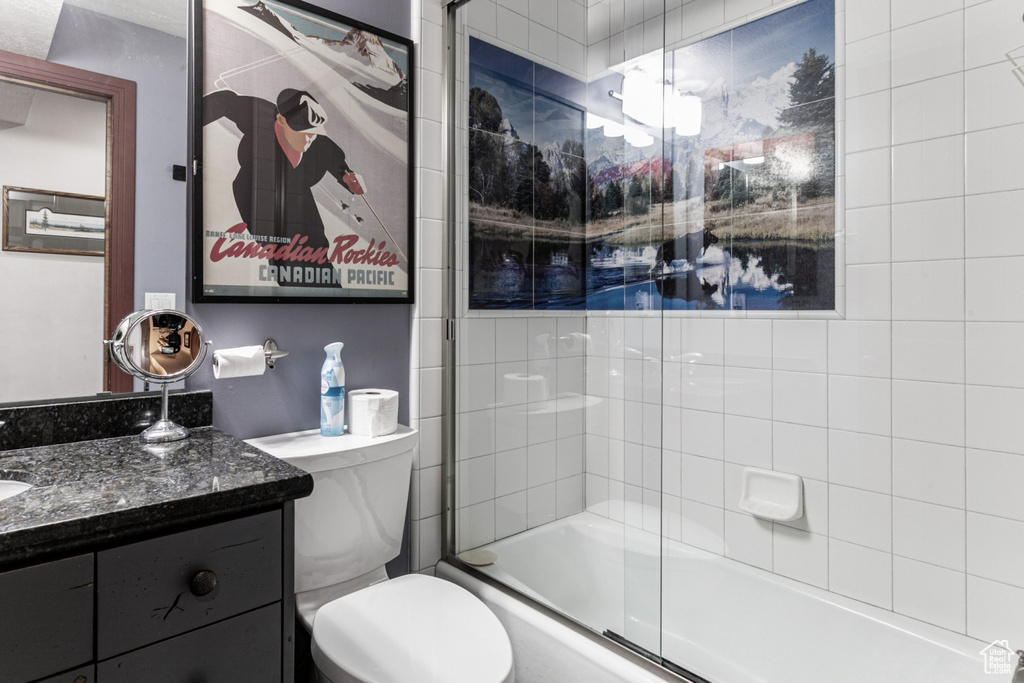
[[[498,617],[460,586],[423,574],[389,579],[406,523],[418,434],[247,442],[313,477],[295,501],[295,606],[322,683],[513,683]]]

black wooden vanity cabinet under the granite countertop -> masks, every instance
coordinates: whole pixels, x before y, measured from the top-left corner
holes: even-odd
[[[0,683],[291,681],[292,506],[0,573]]]

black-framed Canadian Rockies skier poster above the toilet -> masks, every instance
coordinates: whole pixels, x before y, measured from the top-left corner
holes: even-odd
[[[303,2],[193,12],[193,301],[412,303],[412,42]]]

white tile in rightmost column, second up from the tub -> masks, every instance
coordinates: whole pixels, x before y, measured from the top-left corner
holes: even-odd
[[[968,573],[1024,588],[1024,522],[967,513]]]

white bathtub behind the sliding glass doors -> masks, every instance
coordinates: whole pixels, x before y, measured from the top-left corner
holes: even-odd
[[[985,673],[986,643],[680,543],[664,541],[662,577],[662,545],[583,512],[486,546],[498,561],[479,570],[712,683],[1011,678]],[[678,680],[470,572],[442,562],[437,575],[470,589],[503,621],[517,683]]]

